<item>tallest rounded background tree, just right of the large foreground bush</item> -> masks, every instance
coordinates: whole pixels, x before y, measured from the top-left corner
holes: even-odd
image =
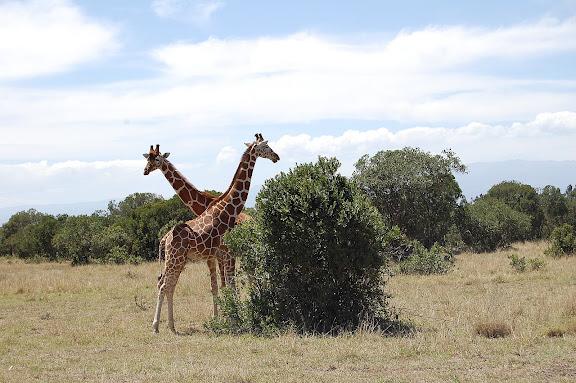
[[[451,151],[380,151],[356,163],[354,180],[392,225],[427,248],[442,242],[462,191],[452,174],[465,166]]]

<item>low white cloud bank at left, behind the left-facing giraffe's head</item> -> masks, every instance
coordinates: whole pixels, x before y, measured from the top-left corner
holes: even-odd
[[[143,175],[146,161],[140,155],[139,158],[0,164],[0,179],[4,185],[10,185],[0,189],[0,208],[109,201],[136,192],[158,193],[168,198],[173,196],[173,188],[160,171]],[[234,174],[233,166],[204,166],[195,160],[192,163],[177,162],[175,165],[198,187],[226,188]],[[213,173],[219,175],[218,182],[209,179]]]

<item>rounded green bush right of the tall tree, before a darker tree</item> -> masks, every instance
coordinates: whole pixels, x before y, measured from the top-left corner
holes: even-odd
[[[462,239],[477,252],[494,251],[530,237],[530,216],[495,198],[479,198],[460,211]]]

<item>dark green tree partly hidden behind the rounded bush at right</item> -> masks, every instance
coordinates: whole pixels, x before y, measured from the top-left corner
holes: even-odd
[[[492,186],[486,197],[496,198],[512,209],[529,215],[532,221],[531,239],[542,235],[544,212],[540,206],[538,193],[532,186],[516,181],[504,181]]]

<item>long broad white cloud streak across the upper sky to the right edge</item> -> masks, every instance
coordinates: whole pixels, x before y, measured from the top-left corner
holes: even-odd
[[[391,41],[350,43],[311,33],[280,38],[175,43],[153,52],[178,77],[283,72],[382,76],[454,68],[487,58],[576,50],[576,18],[499,29],[429,27]]]

